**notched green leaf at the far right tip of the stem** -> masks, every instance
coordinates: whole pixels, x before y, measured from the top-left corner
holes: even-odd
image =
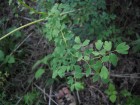
[[[125,42],[119,44],[116,48],[116,51],[120,54],[128,54],[129,46]]]

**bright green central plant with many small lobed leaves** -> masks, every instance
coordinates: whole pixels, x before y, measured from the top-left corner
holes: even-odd
[[[34,66],[35,68],[40,63],[47,64],[52,71],[52,78],[67,78],[71,90],[83,89],[81,78],[84,75],[89,77],[94,74],[94,81],[99,79],[109,81],[110,72],[105,65],[106,62],[116,66],[118,61],[116,53],[127,54],[129,49],[125,42],[114,49],[112,42],[101,40],[95,42],[95,48],[89,47],[90,40],[82,41],[67,25],[69,15],[77,11],[82,9],[73,10],[67,4],[55,4],[48,12],[44,32],[45,37],[54,43],[55,49],[52,54],[39,60]]]

